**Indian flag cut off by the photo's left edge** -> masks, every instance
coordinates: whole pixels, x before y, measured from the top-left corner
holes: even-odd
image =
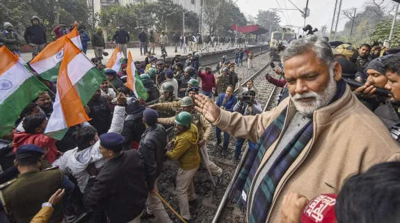
[[[0,137],[9,133],[22,110],[47,91],[6,47],[0,48]]]

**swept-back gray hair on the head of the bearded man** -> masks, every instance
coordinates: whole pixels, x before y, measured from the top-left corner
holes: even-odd
[[[282,53],[282,62],[310,51],[315,53],[319,61],[325,63],[328,67],[333,67],[335,58],[332,49],[330,49],[330,44],[317,35],[307,35],[305,38],[291,41]]]

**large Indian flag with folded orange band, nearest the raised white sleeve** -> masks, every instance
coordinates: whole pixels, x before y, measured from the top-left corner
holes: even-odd
[[[104,75],[72,42],[65,38],[63,61],[57,79],[56,101],[45,133],[61,140],[67,128],[89,118],[83,106],[93,97]]]

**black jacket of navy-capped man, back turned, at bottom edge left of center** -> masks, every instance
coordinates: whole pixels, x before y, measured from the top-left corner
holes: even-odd
[[[111,223],[125,223],[142,213],[147,194],[143,160],[131,149],[108,160],[99,175],[88,180],[83,204],[101,205]]]

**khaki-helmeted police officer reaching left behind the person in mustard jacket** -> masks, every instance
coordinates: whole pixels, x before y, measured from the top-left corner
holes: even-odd
[[[191,97],[184,97],[181,100],[181,107],[182,111],[191,113],[192,115],[192,121],[191,123],[194,124],[195,126],[198,127],[198,131],[200,134],[200,140],[199,140],[199,147],[202,151],[202,167],[207,168],[209,167],[209,170],[211,174],[214,174],[215,176],[218,176],[218,181],[221,179],[221,176],[223,174],[223,170],[215,165],[215,163],[211,162],[209,160],[208,152],[207,152],[207,140],[211,137],[211,134],[213,132],[211,124],[205,119],[204,115],[200,114],[197,112],[197,110],[194,109],[193,106],[193,99]],[[159,118],[157,120],[159,124],[163,125],[170,125],[174,124],[175,122],[175,117],[169,117],[169,118]]]

